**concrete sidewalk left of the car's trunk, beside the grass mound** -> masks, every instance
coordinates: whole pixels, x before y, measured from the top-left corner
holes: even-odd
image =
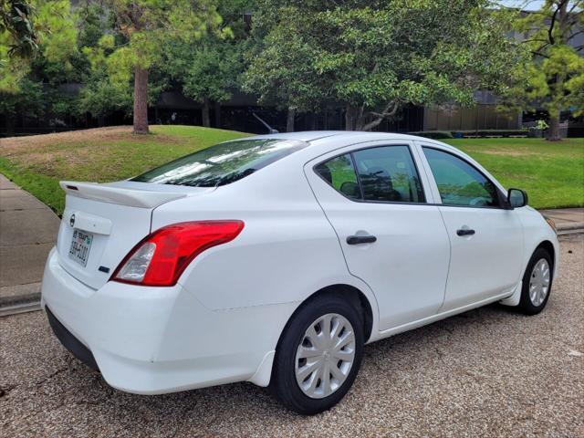
[[[39,297],[59,223],[47,205],[0,174],[0,306]]]

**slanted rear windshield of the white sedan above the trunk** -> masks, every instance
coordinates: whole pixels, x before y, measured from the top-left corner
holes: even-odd
[[[162,164],[130,181],[217,187],[241,180],[306,146],[304,141],[290,140],[228,141]]]

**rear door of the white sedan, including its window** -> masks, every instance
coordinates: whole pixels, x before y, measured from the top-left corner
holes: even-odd
[[[408,141],[378,141],[305,166],[349,272],[377,297],[381,330],[432,316],[443,304],[448,236],[414,153]]]

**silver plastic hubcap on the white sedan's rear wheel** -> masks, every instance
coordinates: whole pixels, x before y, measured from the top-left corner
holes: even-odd
[[[296,381],[312,399],[337,391],[355,360],[355,333],[347,318],[328,313],[310,324],[296,353]]]

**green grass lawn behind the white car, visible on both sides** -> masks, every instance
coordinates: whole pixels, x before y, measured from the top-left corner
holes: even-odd
[[[130,127],[0,139],[0,172],[58,214],[65,203],[60,180],[110,182],[168,162],[243,132],[195,126],[152,126],[147,136]],[[529,194],[537,208],[584,205],[584,139],[462,139],[448,143],[481,162],[506,187]]]

